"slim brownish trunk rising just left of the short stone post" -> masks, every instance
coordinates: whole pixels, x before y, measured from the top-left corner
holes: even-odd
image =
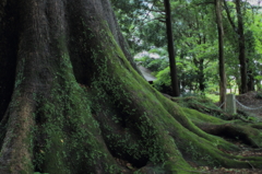
[[[226,73],[225,73],[225,58],[224,58],[224,31],[222,21],[222,0],[215,0],[216,23],[218,31],[218,60],[219,60],[219,102],[226,104]],[[223,108],[226,108],[226,105]]]

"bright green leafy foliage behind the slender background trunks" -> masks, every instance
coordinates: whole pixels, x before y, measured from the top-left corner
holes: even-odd
[[[144,58],[142,65],[151,69],[154,76],[158,76],[155,86],[160,89],[160,84],[170,84],[166,59],[166,31],[162,22],[163,4],[153,1],[112,1],[117,15],[121,18],[122,30],[127,31],[128,38],[136,45],[138,49],[148,50],[150,54],[157,54],[160,59]],[[174,37],[176,45],[176,60],[178,65],[178,79],[183,85],[181,91],[199,91],[200,85],[204,86],[205,92],[217,92],[218,90],[218,39],[214,5],[203,3],[202,0],[193,1],[171,1],[174,19]],[[203,3],[204,5],[199,5]],[[227,1],[230,15],[236,20],[235,3]],[[250,10],[246,2],[241,2],[245,21],[245,37],[247,43],[247,58],[249,76],[259,81],[260,62],[262,62],[261,44],[261,11]],[[130,7],[130,10],[129,8]],[[120,14],[121,13],[121,14]],[[154,20],[157,19],[157,20]],[[237,88],[240,84],[239,60],[238,60],[238,39],[233,30],[225,10],[223,11],[224,26],[224,55],[226,63],[226,76],[228,88]],[[237,25],[236,21],[235,24]],[[142,24],[143,23],[143,24]],[[126,25],[128,24],[128,25]],[[156,32],[157,31],[157,32]],[[153,47],[153,48],[152,48]],[[162,62],[163,61],[163,62]],[[164,79],[160,79],[164,78]],[[259,85],[259,83],[258,83]]]

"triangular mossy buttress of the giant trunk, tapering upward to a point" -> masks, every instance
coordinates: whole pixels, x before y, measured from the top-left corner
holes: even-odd
[[[102,165],[115,169],[111,172],[115,173],[118,167],[111,167],[115,163],[97,139],[100,136],[99,125],[92,116],[87,93],[73,76],[66,46],[60,45],[59,49],[63,50],[60,71],[55,73],[50,97],[37,96],[41,106],[36,114],[40,125],[36,135],[39,134],[37,137],[43,137],[45,141],[37,144],[35,165],[43,172],[57,174],[93,173],[93,166],[103,161],[106,164]]]

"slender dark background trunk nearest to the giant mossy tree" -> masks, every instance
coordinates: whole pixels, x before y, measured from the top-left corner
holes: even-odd
[[[177,79],[177,66],[176,66],[176,56],[172,40],[172,27],[171,27],[171,12],[170,12],[170,2],[169,0],[164,0],[165,10],[166,10],[166,31],[167,31],[167,40],[168,40],[168,55],[169,55],[169,67],[170,67],[170,78],[171,78],[171,88],[172,95],[179,96],[179,86]]]

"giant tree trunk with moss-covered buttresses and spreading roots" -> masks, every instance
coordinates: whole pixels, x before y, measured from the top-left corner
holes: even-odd
[[[258,147],[259,130],[181,108],[139,76],[108,0],[1,1],[0,22],[1,174],[191,173],[184,159],[261,167],[206,134]]]

